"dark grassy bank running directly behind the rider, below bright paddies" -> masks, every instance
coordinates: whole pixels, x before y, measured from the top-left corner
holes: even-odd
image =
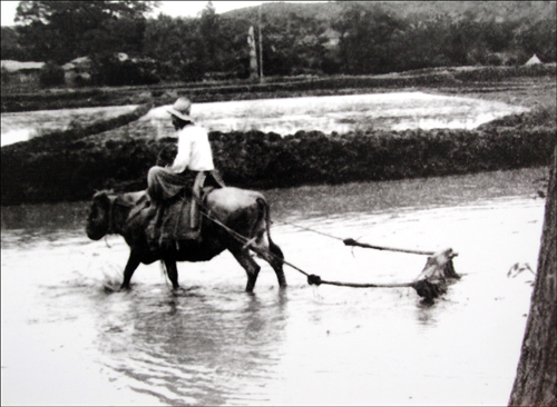
[[[556,142],[544,111],[476,130],[358,131],[324,135],[211,132],[215,165],[228,185],[266,189],[307,183],[392,180],[546,166]],[[1,150],[2,205],[87,200],[95,190],[146,187],[148,169],[174,139],[131,137],[126,127],[57,142],[40,138]]]

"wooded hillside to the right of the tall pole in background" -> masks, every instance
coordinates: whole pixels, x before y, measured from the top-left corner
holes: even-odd
[[[258,11],[248,7],[222,17],[257,24]],[[556,58],[556,1],[268,2],[261,12],[263,37],[276,56],[263,51],[271,76],[517,66],[534,53],[544,62]]]

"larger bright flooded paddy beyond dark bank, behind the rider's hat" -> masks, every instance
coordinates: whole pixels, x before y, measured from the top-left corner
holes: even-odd
[[[167,107],[146,115],[159,136],[172,132]],[[299,130],[345,133],[353,130],[421,128],[473,129],[526,108],[498,101],[423,92],[392,92],[198,103],[192,116],[209,130],[276,132]]]

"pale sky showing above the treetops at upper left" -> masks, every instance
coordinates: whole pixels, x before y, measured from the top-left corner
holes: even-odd
[[[270,2],[270,1],[265,1]],[[294,1],[303,2],[303,1]],[[13,26],[16,8],[19,1],[1,1],[2,26]],[[258,6],[263,1],[213,1],[217,13],[226,12],[244,7]],[[160,7],[155,9],[154,16],[163,12],[170,17],[198,17],[198,13],[207,6],[207,1],[162,1]]]

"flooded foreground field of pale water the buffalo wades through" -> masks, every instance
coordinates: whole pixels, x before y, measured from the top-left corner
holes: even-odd
[[[506,405],[541,234],[544,169],[266,191],[286,259],[324,279],[402,282],[422,256],[340,238],[452,247],[462,279],[433,306],[411,288],[309,286],[228,254],[158,265],[114,291],[119,237],[84,235],[87,202],[2,208],[3,405]],[[292,225],[295,224],[295,225]],[[310,228],[320,234],[309,231]],[[526,271],[508,277],[512,265]]]

